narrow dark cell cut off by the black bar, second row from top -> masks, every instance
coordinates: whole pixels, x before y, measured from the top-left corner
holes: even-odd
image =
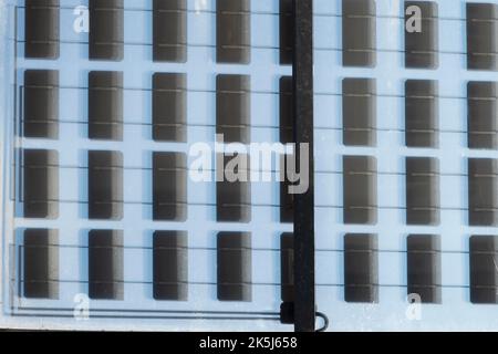
[[[280,77],[280,143],[294,142],[294,100],[292,76]]]

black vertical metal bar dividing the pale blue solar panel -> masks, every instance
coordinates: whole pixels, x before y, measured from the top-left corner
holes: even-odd
[[[309,176],[301,176],[309,188],[294,196],[294,330],[314,332],[313,0],[294,0],[293,8],[297,166],[309,162]],[[309,144],[309,156],[300,156],[300,144]]]

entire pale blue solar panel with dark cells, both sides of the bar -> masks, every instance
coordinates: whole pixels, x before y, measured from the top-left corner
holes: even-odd
[[[86,42],[37,31],[71,27],[76,1],[12,8],[25,27],[10,309],[72,317],[84,293],[102,316],[166,319],[292,301],[288,181],[199,187],[186,176],[187,147],[216,133],[292,140],[291,1],[84,3]],[[422,32],[406,29],[416,9]],[[497,327],[481,305],[498,301],[497,10],[314,1],[317,295],[334,330]],[[413,293],[419,321],[407,315]]]

